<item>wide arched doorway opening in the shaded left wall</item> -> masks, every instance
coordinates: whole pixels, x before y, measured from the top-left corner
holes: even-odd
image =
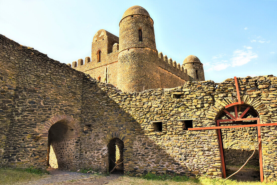
[[[74,130],[68,120],[63,119],[53,124],[48,131],[47,166],[58,169],[70,169],[72,159]]]

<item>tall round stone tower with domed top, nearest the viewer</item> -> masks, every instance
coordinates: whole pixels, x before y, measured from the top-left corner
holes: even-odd
[[[128,8],[119,22],[117,84],[123,92],[160,87],[153,24],[141,6]]]

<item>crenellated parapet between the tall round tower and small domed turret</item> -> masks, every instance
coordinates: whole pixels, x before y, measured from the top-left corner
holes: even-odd
[[[158,53],[158,65],[162,69],[171,72],[172,74],[186,81],[189,81],[187,70],[179,63],[176,63],[175,60],[172,60],[171,58],[168,59],[168,57],[166,55],[163,55],[162,52]]]

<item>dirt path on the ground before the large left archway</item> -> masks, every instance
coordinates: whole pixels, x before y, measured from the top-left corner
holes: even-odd
[[[38,181],[32,181],[25,183],[26,185],[70,185],[70,184],[82,184],[82,185],[102,185],[107,184],[109,181],[120,177],[119,174],[111,174],[110,176],[99,176],[91,173],[78,173],[69,171],[60,171],[58,169],[49,168],[49,175]]]

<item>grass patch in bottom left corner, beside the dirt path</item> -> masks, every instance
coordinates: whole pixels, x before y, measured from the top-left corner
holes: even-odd
[[[45,173],[48,172],[33,168],[0,168],[0,184],[23,183],[30,180],[43,178]]]

